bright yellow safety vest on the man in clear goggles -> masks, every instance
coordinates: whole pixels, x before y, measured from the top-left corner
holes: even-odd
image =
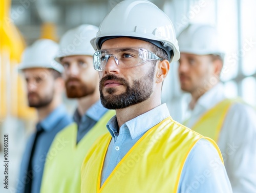
[[[187,156],[205,138],[171,117],[148,130],[117,164],[100,187],[102,167],[112,136],[101,136],[81,167],[82,193],[177,192]],[[208,139],[216,147],[216,143]]]

